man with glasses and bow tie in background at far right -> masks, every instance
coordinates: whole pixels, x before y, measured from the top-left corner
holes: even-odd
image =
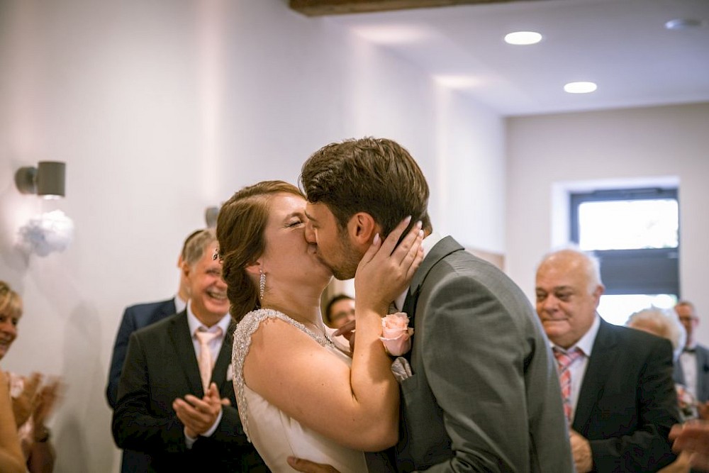
[[[700,411],[707,413],[709,406],[709,349],[699,345],[696,340],[696,328],[699,325],[694,304],[679,301],[674,310],[684,326],[687,339],[684,350],[679,355],[679,362],[674,367],[674,380],[686,386],[695,399],[704,404]]]

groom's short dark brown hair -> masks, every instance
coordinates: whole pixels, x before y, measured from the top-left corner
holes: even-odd
[[[411,224],[428,217],[428,184],[409,152],[386,138],[330,143],[308,158],[301,169],[301,189],[309,202],[328,206],[340,229],[357,212],[381,225],[382,237],[411,216]]]

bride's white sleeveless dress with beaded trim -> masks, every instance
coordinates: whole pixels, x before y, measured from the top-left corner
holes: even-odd
[[[333,342],[316,335],[305,325],[294,321],[286,314],[272,309],[251,311],[239,322],[234,332],[232,355],[234,389],[241,423],[247,438],[254,444],[261,457],[273,472],[294,472],[286,458],[304,458],[313,462],[330,464],[342,473],[367,472],[364,453],[335,443],[314,430],[301,425],[266,399],[249,389],[244,383],[244,359],[249,352],[251,335],[267,318],[279,318],[307,333],[326,350],[333,352],[338,360],[352,364],[350,357],[337,350]]]

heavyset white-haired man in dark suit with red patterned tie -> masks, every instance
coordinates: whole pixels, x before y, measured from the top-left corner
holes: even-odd
[[[537,268],[537,314],[559,360],[576,470],[656,472],[675,458],[671,343],[603,321],[603,290],[598,261],[579,250],[549,253]]]

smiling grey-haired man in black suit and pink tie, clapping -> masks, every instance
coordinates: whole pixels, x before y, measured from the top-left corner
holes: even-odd
[[[235,408],[229,301],[214,252],[213,230],[192,238],[182,265],[186,309],[130,335],[113,438],[150,455],[149,472],[267,471]]]

